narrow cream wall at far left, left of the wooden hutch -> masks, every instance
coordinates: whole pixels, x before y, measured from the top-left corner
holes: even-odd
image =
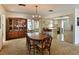
[[[2,45],[3,45],[3,40],[5,40],[5,27],[4,27],[5,18],[3,18],[3,15],[5,15],[5,10],[2,7],[2,5],[0,5],[0,15],[1,15],[1,29],[0,29],[0,50],[1,50]]]

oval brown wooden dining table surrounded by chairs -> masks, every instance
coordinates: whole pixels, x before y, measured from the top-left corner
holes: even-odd
[[[48,38],[48,35],[44,34],[44,33],[39,33],[39,32],[29,32],[27,33],[28,37],[33,40],[33,41],[37,41],[37,42],[42,42],[45,40],[45,38]],[[41,45],[43,45],[41,43]],[[43,51],[42,51],[43,53]]]

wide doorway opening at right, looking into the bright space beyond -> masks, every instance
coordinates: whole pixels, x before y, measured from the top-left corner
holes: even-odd
[[[73,43],[73,23],[69,16],[58,17],[54,19],[54,37],[58,41]],[[58,33],[56,33],[58,32]]]

